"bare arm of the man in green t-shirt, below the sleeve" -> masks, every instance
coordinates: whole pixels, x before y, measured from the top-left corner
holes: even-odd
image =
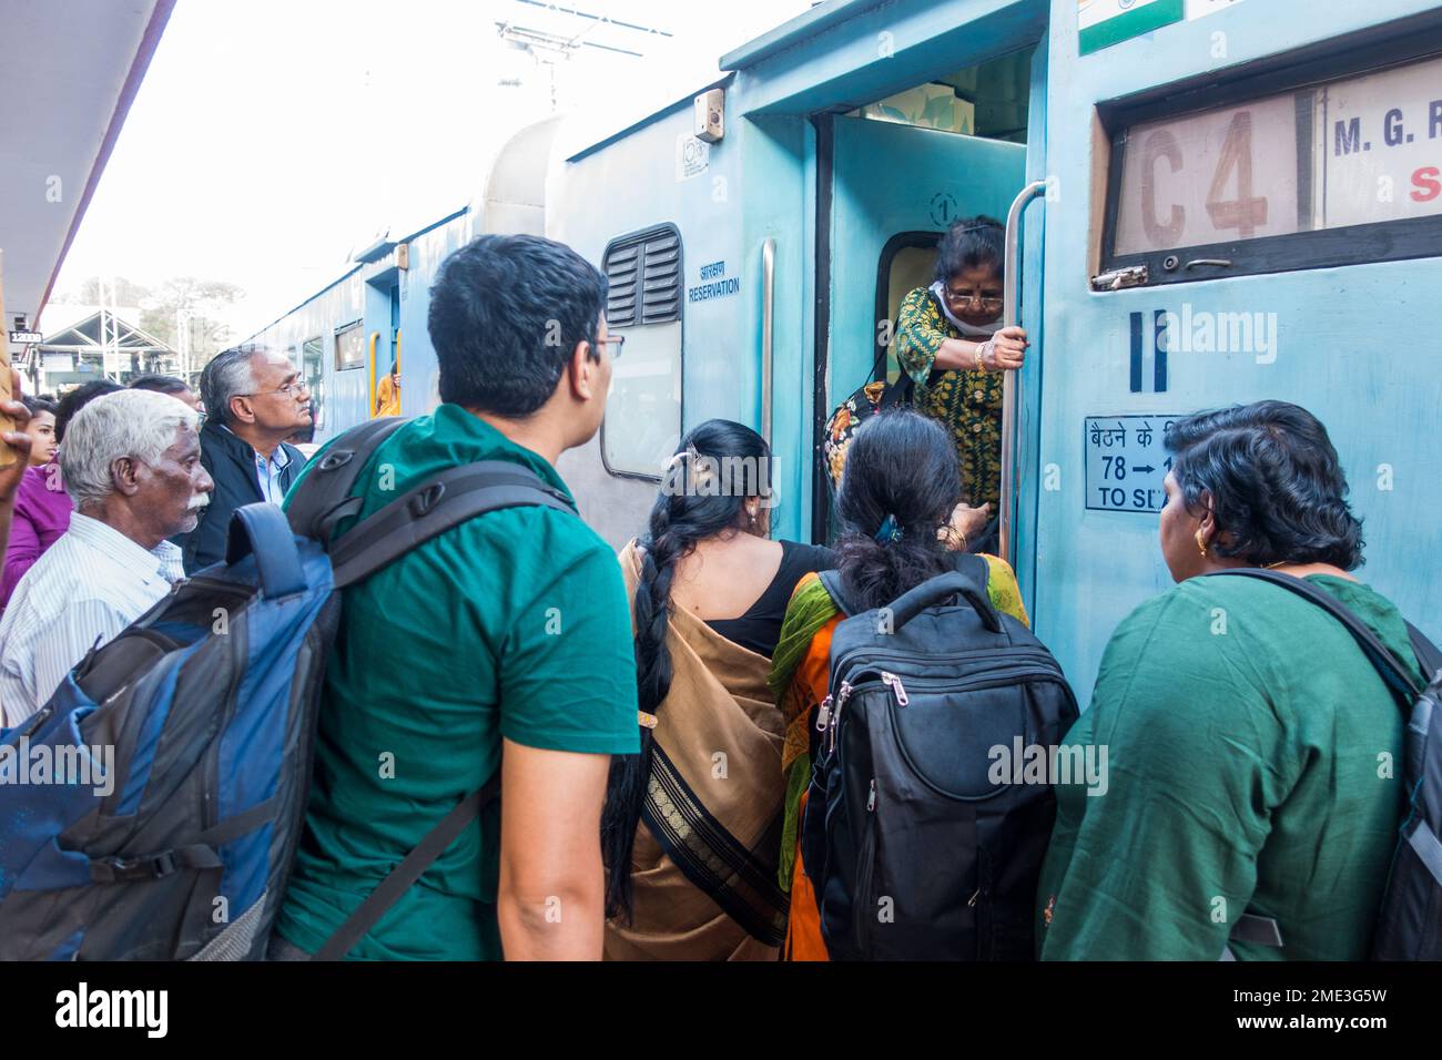
[[[598,960],[609,754],[505,741],[497,916],[506,960]]]

